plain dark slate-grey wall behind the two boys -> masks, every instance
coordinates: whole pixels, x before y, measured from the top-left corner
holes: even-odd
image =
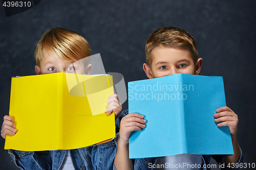
[[[201,75],[223,76],[227,106],[239,116],[244,162],[256,163],[255,5],[253,0],[42,0],[9,17],[0,7],[0,117],[9,111],[11,77],[35,74],[34,45],[47,29],[62,27],[81,34],[92,54],[101,54],[106,72],[120,72],[127,85],[147,78],[142,64],[148,36],[160,27],[174,26],[195,37],[203,58]],[[1,138],[0,169],[17,169],[4,142]]]

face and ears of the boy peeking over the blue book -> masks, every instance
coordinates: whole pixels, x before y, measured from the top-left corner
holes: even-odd
[[[202,58],[199,58],[196,66],[191,58],[190,52],[186,47],[158,46],[152,51],[151,68],[143,64],[143,69],[148,78],[159,78],[177,73],[198,75]]]

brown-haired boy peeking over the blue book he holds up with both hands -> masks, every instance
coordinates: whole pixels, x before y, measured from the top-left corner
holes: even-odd
[[[203,63],[202,58],[198,58],[195,39],[186,31],[174,27],[163,27],[152,33],[146,41],[145,53],[146,63],[143,64],[143,69],[150,79],[178,73],[198,75]],[[238,116],[228,107],[219,108],[216,112],[214,116],[217,126],[228,126],[230,129],[234,155],[212,155],[212,157],[222,164],[223,162],[240,163],[242,154],[237,140]],[[203,167],[201,169],[207,168],[210,155],[181,154],[160,158],[129,159],[129,136],[132,131],[145,128],[146,120],[143,115],[128,114],[127,110],[122,114],[125,116],[120,123],[118,150],[114,163],[116,169],[153,169],[154,164],[183,162],[201,164]]]

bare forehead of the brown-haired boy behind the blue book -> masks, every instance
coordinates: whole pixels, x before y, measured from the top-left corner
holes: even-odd
[[[193,62],[191,53],[187,47],[170,47],[160,45],[152,51],[152,65],[159,62],[173,63],[180,60]]]

